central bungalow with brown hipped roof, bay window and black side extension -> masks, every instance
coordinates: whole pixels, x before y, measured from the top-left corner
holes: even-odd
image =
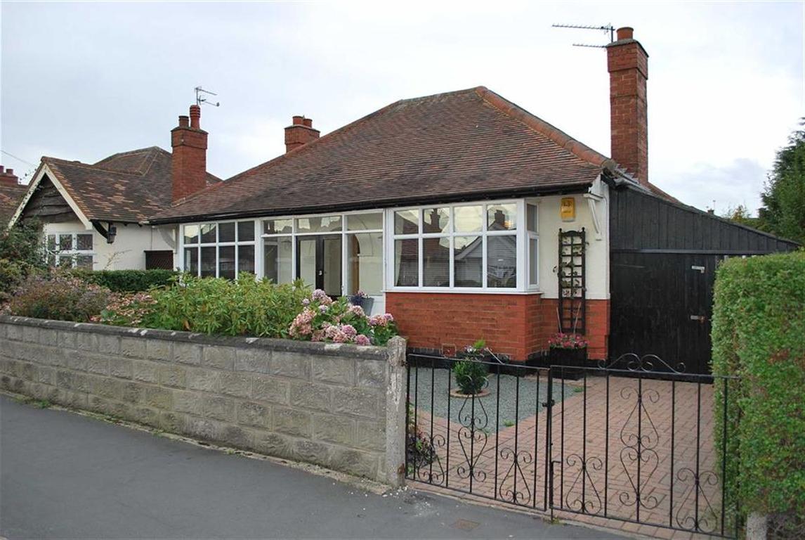
[[[706,372],[717,261],[795,244],[652,185],[648,55],[627,27],[607,60],[612,159],[479,86],[324,136],[295,116],[283,156],[149,222],[180,226],[175,264],[198,276],[362,291],[413,349],[483,338],[525,361],[561,329],[586,334],[592,359],[658,354]]]

